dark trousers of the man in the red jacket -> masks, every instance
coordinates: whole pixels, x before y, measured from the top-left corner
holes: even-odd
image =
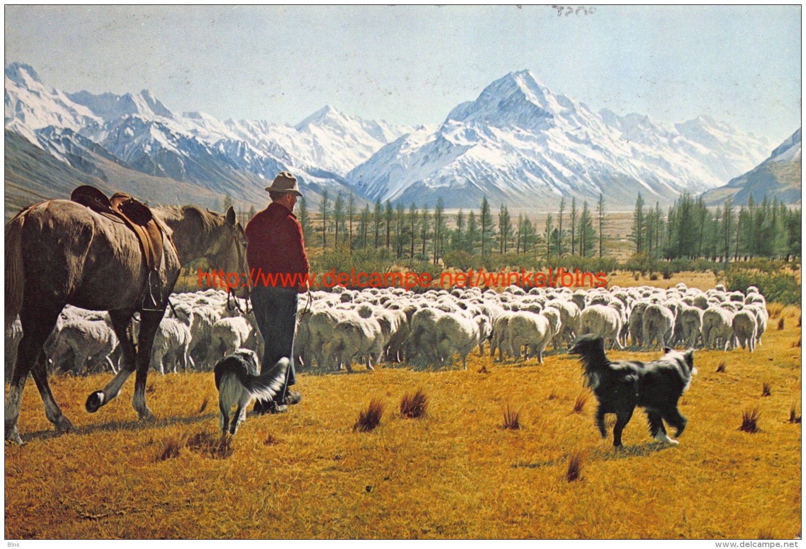
[[[280,402],[285,399],[289,385],[297,383],[293,348],[294,329],[297,327],[298,299],[297,291],[289,288],[257,285],[251,290],[252,308],[255,310],[257,326],[264,341],[260,371],[264,372],[266,368],[272,368],[277,360],[284,356],[289,359],[285,385],[275,397],[275,400]],[[259,404],[256,404],[258,410]]]

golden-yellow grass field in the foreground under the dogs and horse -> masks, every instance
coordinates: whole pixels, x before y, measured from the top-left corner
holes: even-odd
[[[605,418],[608,438],[600,439],[595,406],[571,412],[582,389],[579,361],[551,348],[539,365],[494,364],[474,351],[467,370],[298,372],[302,401],[285,414],[247,415],[222,458],[215,453],[221,439],[212,372],[151,372],[147,399],[156,422],[137,421],[133,379],[88,414],[87,395],[111,375],[53,377],[56,401],[75,426],[62,436],[54,435],[29,380],[19,417],[26,444],[4,449],[4,533],[755,539],[765,532],[791,539],[801,524],[801,426],[787,422],[801,409],[800,348],[790,347],[800,335],[800,309],[783,314],[792,322],[768,330],[752,354],[695,351],[700,372],[681,402],[688,426],[675,447],[654,443],[642,410],[626,426],[622,450],[613,449],[613,414]],[[660,351],[608,356],[654,360]],[[730,368],[716,373],[722,361]],[[482,367],[488,373],[477,375]],[[775,387],[771,396],[761,396],[763,383]],[[402,418],[397,404],[420,387],[427,414]],[[206,396],[210,403],[199,413]],[[395,413],[383,414],[372,433],[353,432],[370,397],[394,403]],[[519,409],[518,430],[500,428],[508,402]],[[750,435],[737,427],[742,411],[753,408],[762,430]],[[169,446],[173,457],[157,459]],[[585,449],[581,481],[568,482],[575,448]]]

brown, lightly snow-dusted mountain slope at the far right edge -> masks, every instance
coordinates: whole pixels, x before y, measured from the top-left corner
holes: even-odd
[[[775,148],[767,160],[733,178],[727,185],[704,193],[703,199],[710,206],[719,206],[728,198],[734,205],[742,205],[750,196],[755,202],[761,202],[766,196],[770,200],[778,198],[785,204],[798,204],[802,196],[801,153],[798,128]]]

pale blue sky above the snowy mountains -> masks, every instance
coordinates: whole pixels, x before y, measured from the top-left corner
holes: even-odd
[[[800,6],[6,6],[6,64],[58,89],[297,123],[326,104],[440,123],[530,69],[594,110],[800,127]]]

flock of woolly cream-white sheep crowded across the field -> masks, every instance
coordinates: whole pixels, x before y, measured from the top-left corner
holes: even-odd
[[[480,288],[429,290],[343,289],[301,296],[293,355],[298,368],[351,371],[361,362],[450,364],[463,368],[474,347],[503,360],[537,356],[551,345],[563,350],[578,335],[600,335],[611,347],[706,347],[754,350],[767,329],[767,303],[750,286],[746,294],[725,287],[703,292],[678,284],[611,289],[534,288],[502,292]],[[239,348],[263,354],[254,314],[226,293],[207,289],[172,296],[152,351],[158,372],[210,370]],[[136,332],[136,322],[133,322]],[[6,333],[6,379],[22,337],[19,319]],[[52,372],[117,372],[120,347],[104,312],[67,306],[45,345]]]

